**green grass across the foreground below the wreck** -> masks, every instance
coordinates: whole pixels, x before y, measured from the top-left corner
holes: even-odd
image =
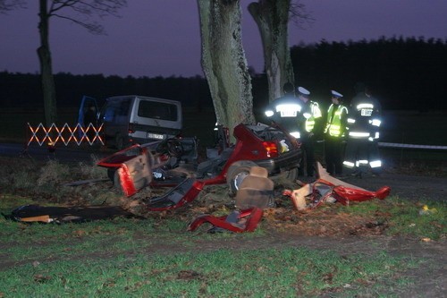
[[[201,251],[193,247],[194,242],[218,243],[242,235],[209,238],[207,234],[167,233],[150,221],[2,224],[6,228],[0,232],[0,243],[10,246],[2,257],[19,263],[1,269],[2,297],[294,297],[325,293],[354,297],[389,294],[384,285],[403,288],[409,281],[401,272],[418,266],[416,260],[384,252],[367,256],[287,247]],[[141,234],[146,234],[146,241],[139,241]],[[159,243],[166,247],[189,243],[191,249],[150,253]]]

